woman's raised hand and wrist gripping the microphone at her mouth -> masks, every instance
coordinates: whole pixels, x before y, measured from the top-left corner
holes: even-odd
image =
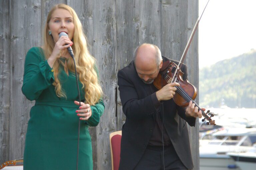
[[[67,44],[67,45],[66,45]],[[52,54],[47,60],[49,66],[52,68],[53,63],[57,58],[60,58],[63,50],[67,49],[68,47],[72,46],[73,42],[69,40],[68,37],[61,36],[59,40],[55,43],[55,46],[53,48]]]

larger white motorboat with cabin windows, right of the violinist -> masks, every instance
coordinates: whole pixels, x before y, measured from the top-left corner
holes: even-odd
[[[200,138],[200,170],[241,170],[228,152],[246,152],[256,142],[256,128],[218,128]]]

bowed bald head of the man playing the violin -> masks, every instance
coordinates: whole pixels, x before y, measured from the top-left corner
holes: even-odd
[[[153,83],[162,67],[159,48],[152,44],[142,44],[134,51],[133,60],[141,80],[146,84]]]

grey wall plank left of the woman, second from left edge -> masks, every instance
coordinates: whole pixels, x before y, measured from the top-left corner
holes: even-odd
[[[23,77],[23,59],[26,55],[27,12],[28,5],[23,1],[11,1],[11,107],[10,107],[10,148],[9,159],[23,156],[25,127],[23,104],[25,97],[21,94]],[[15,12],[12,12],[15,11]],[[17,158],[18,157],[18,158]]]

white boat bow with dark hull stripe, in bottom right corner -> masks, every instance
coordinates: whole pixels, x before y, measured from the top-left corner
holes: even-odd
[[[256,169],[256,146],[246,152],[230,152],[228,155],[241,170]]]

